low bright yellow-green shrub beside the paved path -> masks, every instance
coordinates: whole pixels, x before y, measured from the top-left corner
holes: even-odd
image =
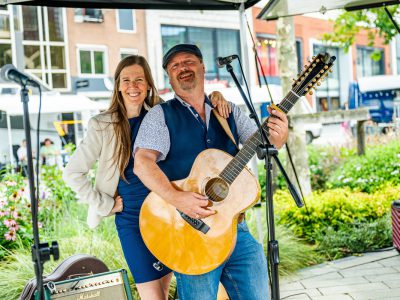
[[[337,232],[343,225],[377,221],[388,213],[399,194],[400,186],[386,187],[373,194],[348,189],[314,192],[301,209],[295,206],[288,192],[281,191],[275,197],[279,203],[276,207],[279,223],[315,243],[316,236],[326,234],[329,228]]]

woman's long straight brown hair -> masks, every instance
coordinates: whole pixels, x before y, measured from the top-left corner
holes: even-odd
[[[154,86],[154,80],[151,76],[150,67],[143,56],[130,55],[122,59],[114,74],[114,90],[112,94],[110,107],[105,113],[110,113],[113,119],[113,126],[116,138],[115,151],[112,157],[113,162],[118,166],[120,176],[126,181],[124,171],[129,163],[129,158],[132,155],[131,145],[131,128],[129,126],[128,115],[122,98],[121,92],[119,91],[120,75],[124,68],[139,65],[144,70],[144,76],[148,84],[147,96],[144,100],[144,105],[148,108],[160,102],[158,92]]]

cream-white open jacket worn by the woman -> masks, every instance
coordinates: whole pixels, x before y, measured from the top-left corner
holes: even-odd
[[[63,173],[64,181],[77,193],[80,202],[89,205],[87,223],[90,228],[95,228],[103,217],[111,215],[114,206],[120,177],[112,159],[115,144],[111,114],[94,116],[89,120],[86,137],[71,156]],[[93,187],[87,174],[97,160],[99,164]]]

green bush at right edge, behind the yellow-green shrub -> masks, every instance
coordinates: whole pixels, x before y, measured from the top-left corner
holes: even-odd
[[[349,158],[328,182],[330,188],[349,187],[372,193],[382,184],[400,185],[400,141],[374,147],[365,156]]]

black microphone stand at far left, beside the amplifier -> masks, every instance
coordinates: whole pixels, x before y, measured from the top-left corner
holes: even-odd
[[[36,283],[37,283],[37,300],[47,299],[44,293],[43,286],[43,264],[50,260],[53,255],[54,260],[59,258],[59,250],[57,242],[53,241],[51,246],[48,243],[40,243],[39,240],[39,226],[38,226],[38,201],[35,196],[35,183],[33,173],[33,159],[32,159],[32,143],[30,134],[30,121],[29,121],[29,91],[27,89],[28,82],[21,82],[21,102],[23,104],[23,123],[26,139],[27,163],[28,163],[28,181],[29,181],[29,194],[31,198],[31,212],[32,212],[32,229],[33,229],[33,246],[31,248],[32,261],[35,269]],[[39,130],[39,128],[38,128]],[[36,174],[36,176],[39,176]],[[36,187],[39,189],[39,186]]]

